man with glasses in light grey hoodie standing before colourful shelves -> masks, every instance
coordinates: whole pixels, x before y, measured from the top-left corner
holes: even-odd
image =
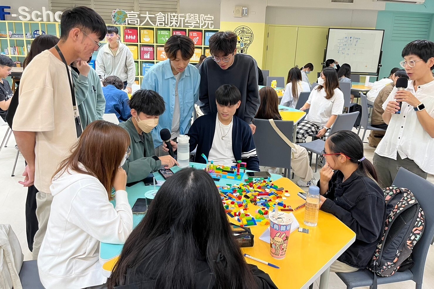
[[[104,80],[106,77],[115,75],[124,82],[124,89],[128,93],[132,92],[132,85],[135,81],[135,63],[133,54],[127,45],[123,44],[119,38],[119,30],[116,26],[107,26],[105,44],[96,56],[96,68],[99,78]]]

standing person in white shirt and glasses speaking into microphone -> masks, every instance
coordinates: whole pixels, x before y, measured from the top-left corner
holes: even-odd
[[[373,158],[383,187],[392,184],[400,167],[424,179],[434,174],[434,43],[415,40],[401,55],[410,81],[404,90],[395,87],[383,104],[388,127]]]

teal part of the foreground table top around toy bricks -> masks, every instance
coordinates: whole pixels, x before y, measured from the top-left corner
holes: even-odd
[[[292,109],[292,108],[291,108]],[[204,169],[206,167],[205,164],[190,162],[190,166],[194,166],[195,169]],[[178,166],[174,166],[171,168],[173,172],[178,172],[181,168]],[[154,172],[154,176],[156,180],[164,181],[164,178],[160,175],[159,172]],[[271,175],[271,179],[277,180],[280,179],[281,175]],[[244,182],[244,179],[247,179],[247,175],[243,175],[240,180],[232,180],[232,179],[220,179],[220,181],[215,182],[216,185],[226,185],[226,184],[239,184],[240,182]],[[156,187],[158,189],[159,187]],[[139,182],[131,187],[127,187],[126,191],[128,193],[128,202],[132,207],[135,201],[138,198],[145,198],[145,193],[154,189],[153,185],[146,185],[143,182]],[[136,227],[138,223],[143,219],[144,215],[133,214],[133,226]],[[101,260],[110,260],[113,257],[118,256],[122,251],[123,245],[119,244],[108,244],[101,243],[99,250],[99,258]]]

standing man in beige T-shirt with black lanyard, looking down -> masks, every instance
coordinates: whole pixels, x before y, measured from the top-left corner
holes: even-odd
[[[69,65],[78,58],[89,59],[99,49],[105,32],[104,20],[94,10],[85,6],[66,10],[60,21],[57,47],[33,58],[21,78],[13,131],[27,162],[20,184],[29,187],[34,183],[39,191],[36,194],[39,230],[33,244],[33,259],[38,257],[46,232],[53,201],[49,190],[53,173],[77,140]]]

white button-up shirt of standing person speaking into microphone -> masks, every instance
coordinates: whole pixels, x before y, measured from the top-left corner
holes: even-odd
[[[421,101],[427,113],[434,117],[434,80],[418,86],[416,92],[413,81],[408,81],[405,90]],[[389,101],[395,100],[396,91],[397,88],[392,90],[383,109]],[[412,159],[424,172],[434,174],[434,139],[422,127],[414,107],[405,102],[402,103],[401,114],[392,115],[385,136],[375,149],[376,154],[390,159],[396,159],[397,152],[401,159]]]

